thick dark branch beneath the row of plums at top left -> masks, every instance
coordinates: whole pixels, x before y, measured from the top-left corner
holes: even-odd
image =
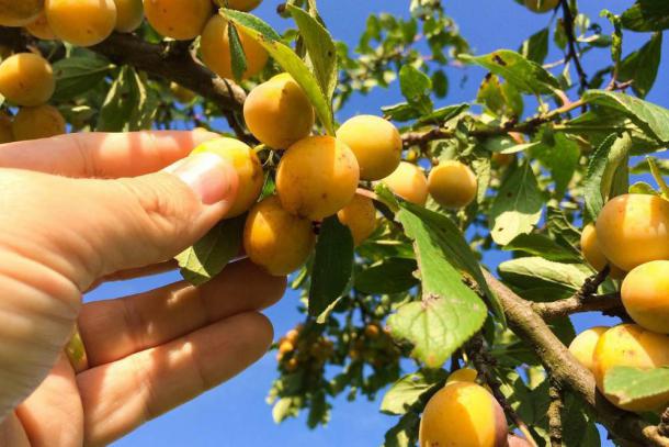
[[[24,51],[30,42],[21,29],[0,26],[0,45]],[[241,110],[246,100],[241,87],[213,74],[180,45],[150,44],[132,34],[115,33],[90,49],[115,64],[133,66],[193,90],[215,102],[224,113]]]

